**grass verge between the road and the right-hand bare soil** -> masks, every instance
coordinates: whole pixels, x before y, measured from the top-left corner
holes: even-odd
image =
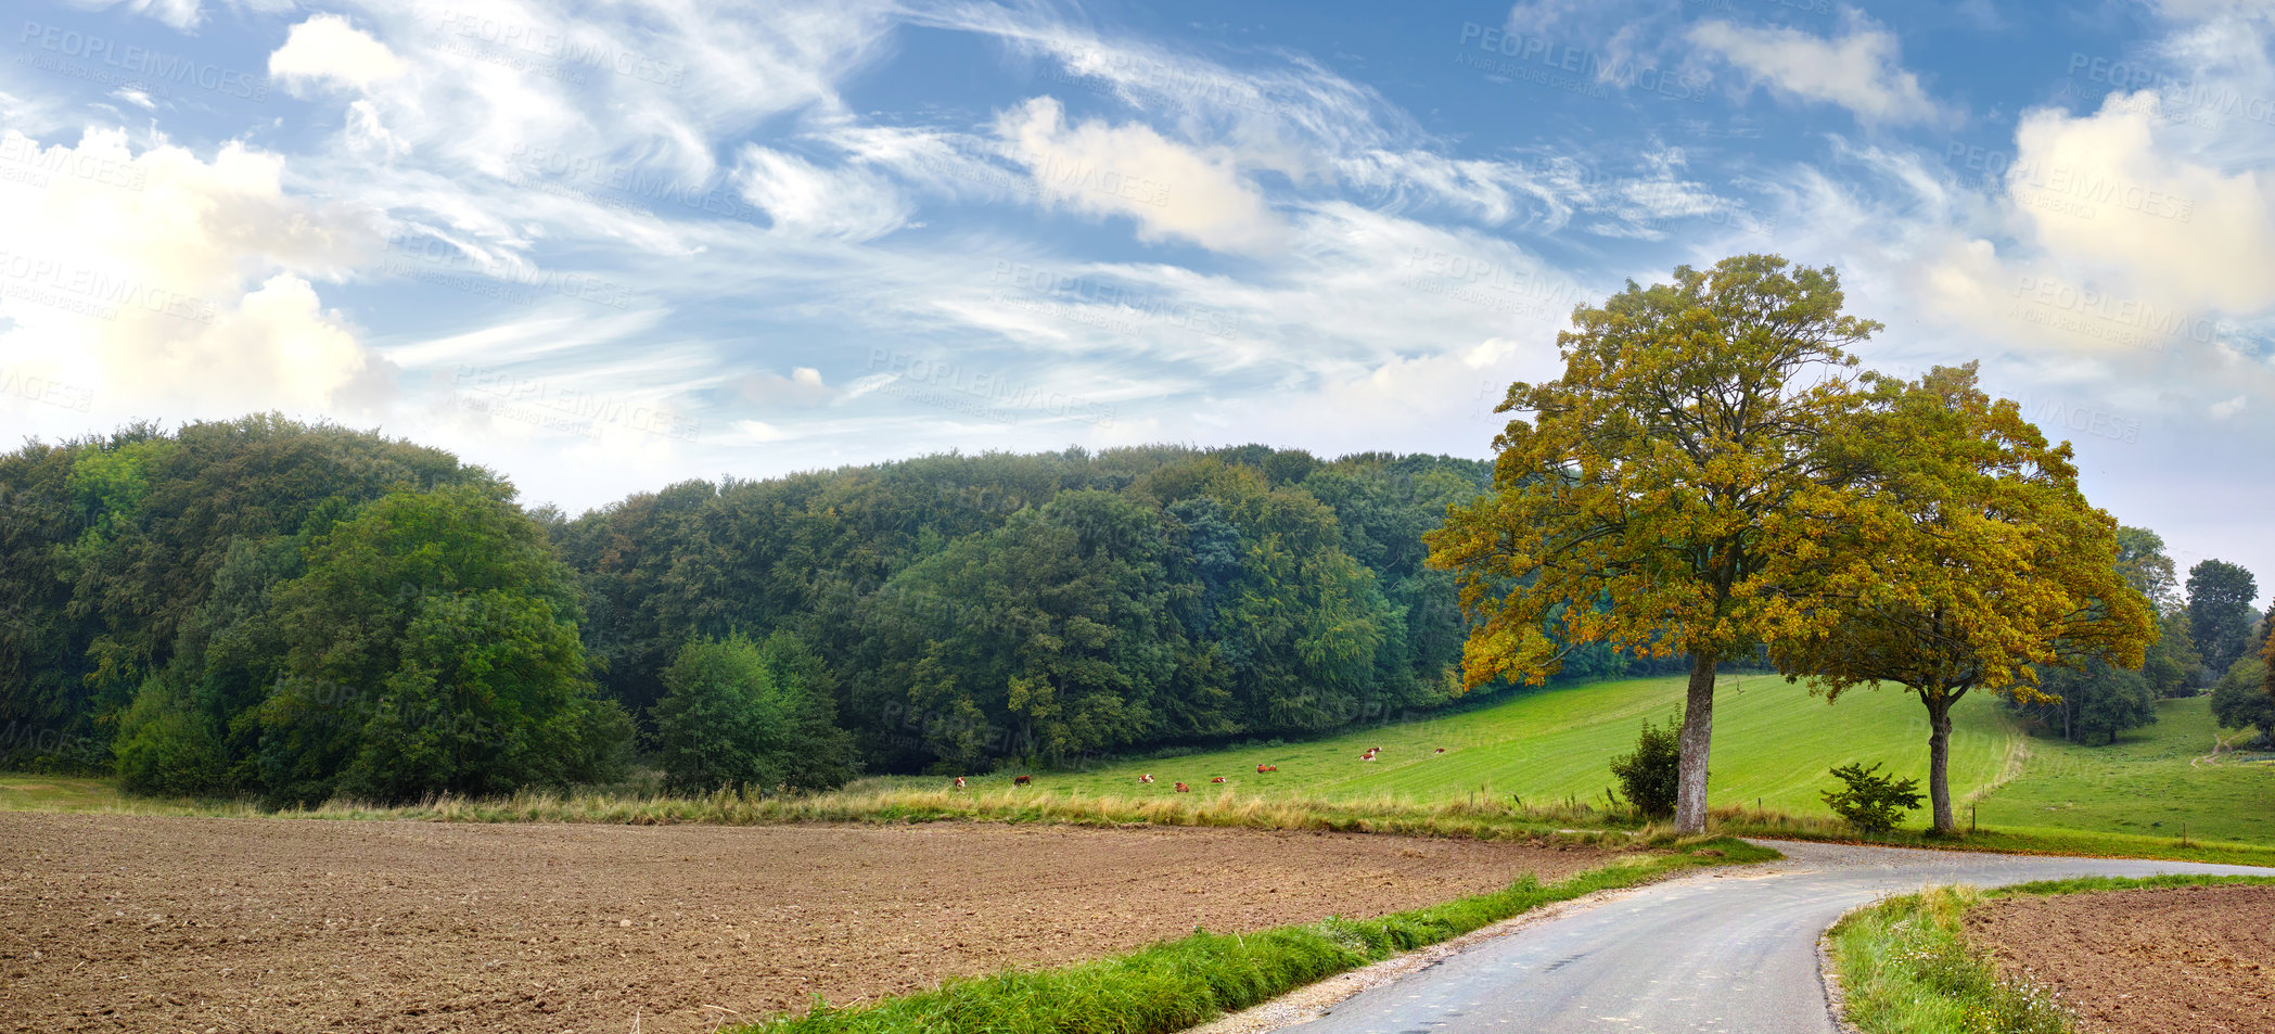
[[[1968,909],[2009,895],[2275,884],[2275,877],[2077,877],[1995,891],[1931,886],[1840,918],[1827,934],[1843,1018],[1863,1034],[2070,1034],[2075,1016],[2043,988],[2004,979],[1963,938]]]

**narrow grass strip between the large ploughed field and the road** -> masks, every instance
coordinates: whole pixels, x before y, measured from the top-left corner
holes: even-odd
[[[1320,922],[1254,934],[1210,934],[1051,970],[969,977],[935,991],[837,1009],[817,1002],[801,1016],[742,1027],[744,1034],[1156,1034],[1240,1011],[1304,984],[1597,891],[1649,884],[1699,868],[1779,859],[1745,840],[1684,840],[1542,886],[1522,877],[1502,891],[1372,920]]]

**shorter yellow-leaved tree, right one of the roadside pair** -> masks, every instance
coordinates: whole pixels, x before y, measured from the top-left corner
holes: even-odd
[[[2157,615],[2118,563],[2118,522],[2077,490],[2070,444],[1984,394],[1972,362],[1863,380],[1870,405],[1827,449],[1847,492],[1809,515],[1847,563],[1772,565],[1818,613],[1770,656],[1829,697],[1881,681],[1918,695],[1934,827],[1952,834],[1952,704],[2050,699],[2034,665],[2138,667]]]

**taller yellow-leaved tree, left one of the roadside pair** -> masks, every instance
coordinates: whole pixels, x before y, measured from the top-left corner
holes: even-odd
[[[1795,519],[1840,490],[1827,449],[1856,412],[1845,346],[1879,323],[1840,312],[1834,269],[1736,255],[1572,312],[1561,378],[1508,387],[1495,490],[1429,535],[1476,617],[1470,686],[1540,683],[1586,642],[1690,656],[1674,824],[1706,824],[1715,667],[1825,608],[1772,578],[1840,563]]]

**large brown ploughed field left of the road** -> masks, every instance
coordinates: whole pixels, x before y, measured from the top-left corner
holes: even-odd
[[[696,1032],[1604,861],[1249,829],[0,813],[0,1032]]]

